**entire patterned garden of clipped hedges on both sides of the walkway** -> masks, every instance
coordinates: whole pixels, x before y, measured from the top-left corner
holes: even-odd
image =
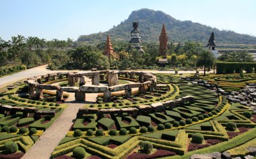
[[[109,101],[102,92],[94,103],[85,103],[51,157],[189,158],[211,152],[243,157],[250,153],[247,148],[255,146],[256,113],[249,105],[234,103],[218,90],[241,93],[253,83],[255,73],[245,73],[243,77],[241,74],[154,75],[157,80],[154,89],[133,88],[129,96],[127,91],[114,91]],[[58,84],[66,91],[67,87],[79,87],[75,77],[73,83],[70,76],[41,76],[40,85]],[[121,85],[141,81],[139,74],[131,78],[120,73],[118,78]],[[106,74],[101,75],[99,83],[109,83]],[[71,95],[70,90],[64,91],[59,100],[58,90],[44,89],[38,98],[30,95],[30,89],[30,84],[19,81],[2,90],[1,158],[24,156],[61,115],[67,107],[65,99]]]

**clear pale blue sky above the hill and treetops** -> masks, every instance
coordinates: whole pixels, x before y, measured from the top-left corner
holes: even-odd
[[[18,34],[46,40],[77,40],[105,32],[141,8],[175,19],[256,36],[255,0],[0,0],[0,37]]]

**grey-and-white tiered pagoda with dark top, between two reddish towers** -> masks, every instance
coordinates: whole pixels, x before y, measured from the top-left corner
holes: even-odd
[[[131,40],[129,41],[129,43],[133,44],[133,48],[135,48],[139,52],[145,53],[144,50],[142,49],[143,46],[141,46],[138,25],[139,22],[133,22],[133,30],[131,30]]]

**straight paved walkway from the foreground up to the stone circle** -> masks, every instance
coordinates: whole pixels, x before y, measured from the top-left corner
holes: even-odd
[[[70,93],[70,97],[74,97]],[[65,111],[57,118],[57,120],[49,127],[41,138],[30,148],[28,153],[25,154],[23,159],[46,159],[51,157],[51,153],[54,148],[59,144],[59,142],[65,137],[67,131],[73,124],[73,119],[75,119],[79,108],[84,106],[84,102],[72,102],[72,98],[69,99],[65,104],[68,107]]]

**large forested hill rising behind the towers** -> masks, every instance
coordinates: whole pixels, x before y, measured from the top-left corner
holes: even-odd
[[[106,40],[106,35],[114,41],[129,42],[129,32],[132,29],[132,22],[139,21],[139,31],[143,42],[158,42],[162,23],[166,25],[169,42],[201,42],[207,44],[211,32],[214,32],[217,44],[256,44],[256,37],[237,34],[231,31],[220,31],[216,28],[193,23],[192,21],[180,21],[162,11],[151,9],[139,9],[133,11],[128,19],[114,26],[107,32],[99,32],[87,36],[79,36],[79,42],[102,42]],[[230,24],[231,25],[231,24]]]

